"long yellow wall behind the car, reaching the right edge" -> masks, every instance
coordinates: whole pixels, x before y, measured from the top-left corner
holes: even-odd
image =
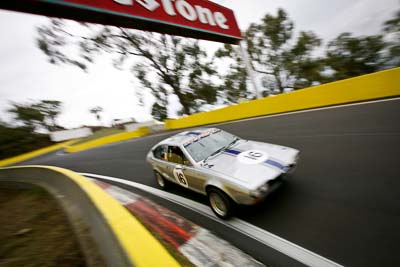
[[[400,68],[372,73],[352,79],[323,84],[275,97],[197,113],[177,120],[166,120],[166,129],[180,129],[400,95]]]

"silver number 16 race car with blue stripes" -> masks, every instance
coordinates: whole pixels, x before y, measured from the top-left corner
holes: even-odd
[[[173,182],[207,195],[213,212],[224,219],[236,204],[264,199],[298,160],[297,149],[244,140],[217,128],[179,133],[147,155],[160,187]]]

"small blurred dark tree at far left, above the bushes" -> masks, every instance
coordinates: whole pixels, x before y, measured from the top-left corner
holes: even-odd
[[[15,119],[29,131],[34,132],[40,127],[45,127],[45,116],[36,104],[12,103],[11,105],[12,108],[8,109],[8,112],[14,113]]]

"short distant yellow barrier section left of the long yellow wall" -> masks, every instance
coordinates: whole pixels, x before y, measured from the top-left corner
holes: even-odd
[[[88,141],[88,142],[85,142],[82,144],[78,144],[75,146],[74,145],[69,146],[65,149],[65,152],[68,152],[68,153],[79,152],[79,151],[92,149],[92,148],[107,145],[107,144],[126,141],[126,140],[129,140],[132,138],[138,138],[141,136],[145,136],[148,133],[149,133],[148,127],[141,127],[136,131],[113,134],[110,136],[101,137],[101,138],[91,140],[91,141]]]

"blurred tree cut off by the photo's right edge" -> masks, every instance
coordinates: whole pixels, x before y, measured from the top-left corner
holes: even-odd
[[[387,41],[387,67],[400,67],[400,10],[394,18],[384,23],[383,31]]]

